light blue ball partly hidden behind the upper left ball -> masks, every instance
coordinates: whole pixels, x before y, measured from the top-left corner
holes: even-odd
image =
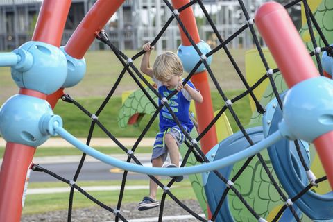
[[[66,53],[65,47],[60,47],[62,53],[64,53],[67,60],[67,78],[62,88],[73,87],[80,83],[80,80],[85,76],[87,66],[85,64],[85,58],[77,59]]]

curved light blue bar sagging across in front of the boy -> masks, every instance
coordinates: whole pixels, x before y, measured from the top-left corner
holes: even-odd
[[[282,139],[280,131],[277,131],[272,135],[270,135],[269,137],[267,137],[266,139],[262,140],[261,142],[258,142],[257,144],[251,146],[250,148],[247,148],[244,151],[235,153],[223,159],[193,167],[167,169],[160,167],[144,167],[142,165],[131,164],[128,162],[117,160],[114,157],[105,155],[104,153],[96,151],[94,148],[87,146],[86,144],[83,144],[83,142],[80,142],[80,140],[76,139],[76,137],[68,133],[67,130],[65,130],[61,126],[58,126],[57,123],[53,124],[53,128],[56,131],[56,133],[60,135],[60,137],[67,140],[67,142],[69,142],[73,146],[76,146],[76,148],[78,148],[80,151],[83,151],[87,155],[90,155],[96,158],[97,160],[101,160],[106,164],[110,164],[114,167],[118,167],[126,171],[144,173],[148,175],[161,175],[161,176],[180,176],[180,175],[187,175],[194,173],[203,173],[207,171],[213,171],[215,169],[220,169],[222,167],[227,167],[228,165],[233,164],[234,162],[237,162],[244,158],[255,155],[256,153],[259,153],[259,151],[262,151],[264,148],[271,146],[272,144],[275,144],[275,142],[278,142],[278,140]]]

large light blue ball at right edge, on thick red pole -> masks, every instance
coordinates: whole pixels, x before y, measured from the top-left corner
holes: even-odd
[[[294,85],[284,98],[279,130],[285,137],[313,142],[333,130],[333,80],[309,78]]]

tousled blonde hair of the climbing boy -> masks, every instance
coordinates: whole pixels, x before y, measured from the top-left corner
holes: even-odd
[[[157,56],[153,65],[153,76],[160,81],[167,81],[172,76],[181,76],[183,71],[182,62],[172,51]]]

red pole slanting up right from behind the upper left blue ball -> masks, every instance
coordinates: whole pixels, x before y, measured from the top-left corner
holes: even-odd
[[[103,29],[110,17],[124,1],[96,1],[65,46],[65,51],[69,56],[77,59],[83,58],[96,37],[95,32]]]

